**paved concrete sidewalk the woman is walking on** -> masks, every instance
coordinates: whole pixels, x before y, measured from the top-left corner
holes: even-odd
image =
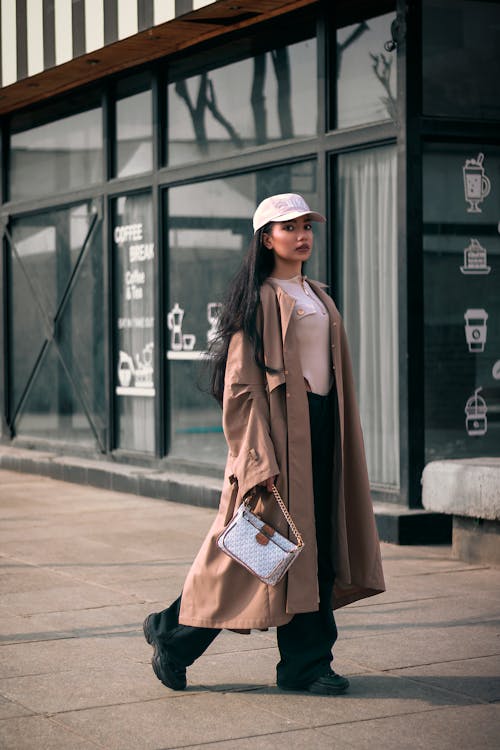
[[[388,591],[337,612],[336,698],[281,693],[273,631],[223,632],[163,687],[142,635],[214,511],[0,471],[0,748],[497,750],[500,569],[382,545]]]

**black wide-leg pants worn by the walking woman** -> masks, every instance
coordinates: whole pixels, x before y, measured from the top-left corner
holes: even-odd
[[[334,440],[334,399],[308,393],[314,487],[314,515],[318,546],[319,610],[294,615],[277,628],[280,661],[277,682],[287,687],[303,687],[328,672],[337,627],[331,608],[335,571],[331,554],[332,457]],[[181,597],[151,618],[150,627],[168,656],[179,666],[190,666],[220,633],[218,628],[179,624]]]

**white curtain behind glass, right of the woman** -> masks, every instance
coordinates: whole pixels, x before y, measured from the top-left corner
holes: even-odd
[[[373,485],[399,487],[396,147],[338,157],[343,316]]]

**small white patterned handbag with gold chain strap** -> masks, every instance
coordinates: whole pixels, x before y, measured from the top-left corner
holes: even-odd
[[[272,493],[297,540],[296,544],[253,513],[248,498],[217,537],[217,546],[226,555],[269,586],[275,586],[283,578],[304,549],[300,531],[274,484]]]

